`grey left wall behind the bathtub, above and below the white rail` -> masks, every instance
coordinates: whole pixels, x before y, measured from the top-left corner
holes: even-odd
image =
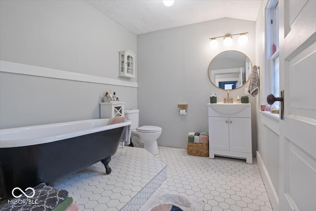
[[[127,49],[137,52],[137,36],[84,1],[0,1],[2,61],[137,82],[118,77],[118,51]],[[0,80],[1,128],[98,119],[109,89],[137,107],[136,87],[4,72]]]

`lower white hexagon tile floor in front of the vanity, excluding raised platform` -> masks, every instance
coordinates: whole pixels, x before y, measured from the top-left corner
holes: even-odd
[[[159,147],[168,165],[158,189],[205,202],[205,211],[272,211],[256,159],[191,156],[186,149]]]

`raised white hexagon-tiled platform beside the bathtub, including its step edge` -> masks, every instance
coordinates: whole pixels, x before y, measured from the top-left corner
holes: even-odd
[[[109,164],[98,162],[58,180],[55,187],[73,197],[79,211],[137,211],[165,180],[167,165],[145,149],[118,148]]]

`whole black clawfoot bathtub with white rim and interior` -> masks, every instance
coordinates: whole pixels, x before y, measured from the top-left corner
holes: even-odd
[[[0,197],[44,182],[53,186],[64,176],[101,161],[109,162],[131,121],[84,120],[0,130]]]

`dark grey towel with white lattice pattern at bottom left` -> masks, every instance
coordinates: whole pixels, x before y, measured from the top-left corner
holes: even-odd
[[[68,197],[68,191],[47,186],[45,183],[34,187],[34,191],[35,193],[31,189],[25,191],[28,197],[34,194],[32,198],[28,198],[16,190],[15,195],[21,194],[21,197],[8,200],[4,207],[0,207],[0,211],[51,211]],[[11,200],[18,201],[15,203]]]

